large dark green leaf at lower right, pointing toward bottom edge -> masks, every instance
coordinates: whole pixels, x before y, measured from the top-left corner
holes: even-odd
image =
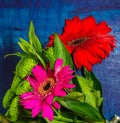
[[[99,111],[87,103],[75,100],[64,100],[62,98],[60,98],[59,103],[88,122],[103,121],[103,118]]]

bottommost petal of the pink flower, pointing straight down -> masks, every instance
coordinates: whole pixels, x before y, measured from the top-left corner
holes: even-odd
[[[44,102],[42,105],[42,117],[48,118],[51,121],[53,120],[53,116],[54,113],[51,106]]]

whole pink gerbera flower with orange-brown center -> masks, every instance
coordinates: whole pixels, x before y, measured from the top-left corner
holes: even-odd
[[[43,118],[53,120],[54,112],[52,107],[60,108],[60,104],[53,101],[55,96],[66,96],[65,88],[74,88],[70,80],[74,77],[70,66],[62,67],[63,60],[57,59],[54,65],[54,72],[48,68],[45,70],[41,65],[32,69],[32,75],[27,80],[33,88],[32,92],[21,94],[20,103],[25,109],[32,110],[32,117],[42,112]]]

